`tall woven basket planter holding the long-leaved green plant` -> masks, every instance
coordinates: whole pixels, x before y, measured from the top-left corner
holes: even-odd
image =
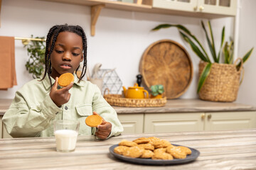
[[[240,69],[236,69],[236,63],[234,64],[219,64],[213,63],[210,69],[210,74],[206,78],[201,90],[199,91],[199,98],[205,101],[235,101],[238,96],[238,89],[240,86]],[[199,63],[199,75],[203,72],[208,62],[201,61]]]

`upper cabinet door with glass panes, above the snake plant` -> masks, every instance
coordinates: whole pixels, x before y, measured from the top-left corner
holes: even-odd
[[[235,16],[237,0],[198,0],[197,11]]]

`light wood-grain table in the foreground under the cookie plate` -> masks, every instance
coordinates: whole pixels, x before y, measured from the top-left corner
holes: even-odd
[[[189,164],[145,166],[119,161],[109,152],[121,140],[151,136],[193,147],[201,154]],[[109,140],[80,136],[70,153],[56,152],[54,137],[2,139],[0,169],[256,169],[256,129],[120,135]]]

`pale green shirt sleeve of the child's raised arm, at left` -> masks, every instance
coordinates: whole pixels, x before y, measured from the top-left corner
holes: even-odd
[[[60,111],[62,109],[53,103],[49,94],[39,105],[31,106],[21,93],[16,92],[14,101],[4,114],[3,123],[12,137],[38,137]]]

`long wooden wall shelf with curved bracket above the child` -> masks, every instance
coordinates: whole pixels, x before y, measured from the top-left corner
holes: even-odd
[[[142,4],[132,4],[122,1],[107,1],[107,0],[39,0],[39,1],[50,1],[65,4],[78,4],[84,6],[90,6],[91,8],[91,35],[95,35],[95,25],[97,23],[97,18],[100,16],[100,11],[102,8],[112,8],[122,11],[139,11],[144,13],[159,13],[168,14],[176,16],[188,16],[188,17],[198,17],[198,18],[223,18],[227,14],[218,13],[203,13],[194,11],[181,11],[179,9],[169,9],[169,8],[154,8],[152,7],[153,1],[155,0],[144,0]]]

